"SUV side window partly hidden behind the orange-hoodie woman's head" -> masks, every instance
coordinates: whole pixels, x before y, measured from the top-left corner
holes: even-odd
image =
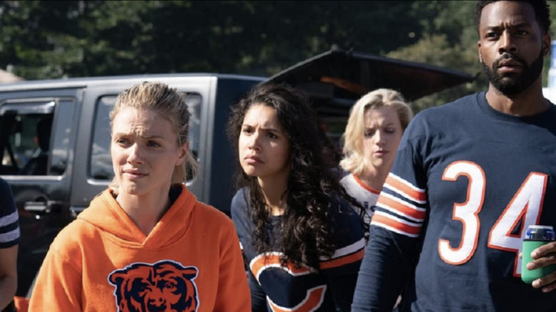
[[[98,99],[93,128],[91,161],[89,175],[95,180],[112,180],[114,177],[110,158],[110,110],[117,95],[105,95]],[[189,128],[190,150],[197,157],[199,152],[200,115],[202,98],[198,93],[185,93],[185,102],[189,107],[191,118]],[[187,180],[191,180],[188,175]]]

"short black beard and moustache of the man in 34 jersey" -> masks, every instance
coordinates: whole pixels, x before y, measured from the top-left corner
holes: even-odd
[[[496,69],[500,66],[500,61],[512,58],[514,61],[518,61],[522,65],[522,72],[518,73],[507,73],[500,75]],[[503,95],[515,95],[523,90],[529,88],[532,83],[539,78],[540,73],[542,73],[542,62],[543,62],[542,51],[540,51],[539,57],[528,66],[525,61],[518,56],[514,56],[510,53],[504,53],[502,57],[494,61],[493,68],[489,68],[484,61],[480,63],[483,65],[483,70],[490,83],[494,85]]]

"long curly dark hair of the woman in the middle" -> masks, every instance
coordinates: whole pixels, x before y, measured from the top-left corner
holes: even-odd
[[[258,253],[279,249],[282,264],[302,264],[319,269],[319,256],[331,256],[331,215],[336,200],[357,205],[326,166],[316,116],[307,97],[286,85],[262,83],[232,106],[227,133],[238,148],[242,123],[252,105],[267,105],[277,112],[279,123],[289,140],[291,172],[287,180],[287,203],[279,224],[280,239],[270,246],[267,224],[269,212],[257,177],[246,175],[238,160],[237,187],[249,189],[249,215],[254,223],[253,244]],[[236,152],[237,155],[237,152]]]

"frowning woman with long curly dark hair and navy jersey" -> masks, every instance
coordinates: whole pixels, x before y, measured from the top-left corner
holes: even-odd
[[[228,134],[241,167],[231,211],[252,311],[349,311],[362,222],[327,169],[306,98],[257,85],[232,108]]]

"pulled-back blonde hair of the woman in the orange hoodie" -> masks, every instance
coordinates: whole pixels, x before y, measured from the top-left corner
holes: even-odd
[[[135,108],[138,110],[152,110],[159,113],[163,118],[172,123],[172,127],[177,134],[177,146],[187,144],[189,135],[190,113],[185,103],[182,93],[178,93],[175,88],[170,88],[165,83],[145,81],[124,90],[110,111],[110,128],[113,126],[115,115],[118,115],[123,108]],[[197,172],[197,161],[191,154],[189,148],[185,155],[182,165],[174,168],[172,174],[172,184],[185,182],[187,171],[194,177]],[[118,180],[116,177],[110,183],[110,188],[118,194]]]

